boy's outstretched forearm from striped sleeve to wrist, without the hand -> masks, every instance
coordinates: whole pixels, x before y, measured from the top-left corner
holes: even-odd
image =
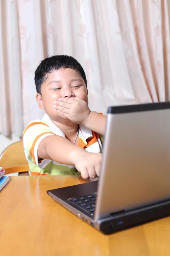
[[[75,165],[75,160],[84,150],[61,136],[45,137],[38,146],[38,157],[52,159],[57,163]]]

